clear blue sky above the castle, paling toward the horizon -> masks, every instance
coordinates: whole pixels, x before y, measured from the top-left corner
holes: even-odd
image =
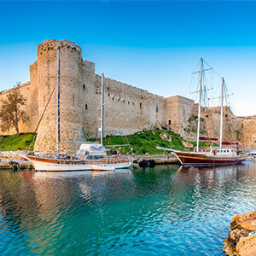
[[[67,39],[96,73],[161,96],[190,97],[203,57],[234,92],[235,113],[256,114],[255,13],[256,2],[238,1],[0,1],[0,90],[29,80],[38,44]]]

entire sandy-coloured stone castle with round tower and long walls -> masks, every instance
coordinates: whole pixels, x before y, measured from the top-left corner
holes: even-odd
[[[100,127],[100,112],[97,107],[102,101],[102,77],[95,73],[95,63],[82,59],[79,45],[67,40],[50,39],[38,45],[38,60],[30,66],[30,81],[18,86],[21,94],[26,97],[24,108],[29,117],[26,123],[20,123],[20,131],[35,130],[56,86],[58,48],[61,53],[61,141],[80,142],[85,137],[97,137]],[[105,136],[127,135],[162,125],[183,137],[195,139],[198,104],[194,101],[183,96],[157,96],[108,78],[105,78],[104,84]],[[9,91],[0,93],[1,100]],[[35,150],[50,151],[55,146],[55,109],[56,93],[49,101],[39,125]],[[219,136],[219,116],[219,108],[202,108],[203,135]],[[224,140],[256,143],[256,117],[236,117],[230,108],[225,108],[224,124]],[[9,133],[15,133],[15,130],[10,130]],[[72,144],[66,145],[66,148],[72,147]]]

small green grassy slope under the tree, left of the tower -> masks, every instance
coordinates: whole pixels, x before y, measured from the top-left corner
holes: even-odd
[[[32,133],[21,133],[20,137],[17,135],[4,135],[0,141],[0,149],[4,151],[26,149],[28,144],[32,140]],[[30,144],[29,150],[33,150],[36,136],[33,137],[32,143]],[[4,148],[3,148],[4,147]]]

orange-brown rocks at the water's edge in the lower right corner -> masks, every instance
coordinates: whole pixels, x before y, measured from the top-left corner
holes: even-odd
[[[224,239],[222,251],[229,256],[256,255],[256,210],[236,214],[231,220],[230,235]]]

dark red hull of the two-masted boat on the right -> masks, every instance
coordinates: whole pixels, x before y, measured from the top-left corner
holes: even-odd
[[[236,165],[247,159],[247,154],[236,157],[207,156],[206,154],[192,154],[173,152],[183,166],[226,166]]]

